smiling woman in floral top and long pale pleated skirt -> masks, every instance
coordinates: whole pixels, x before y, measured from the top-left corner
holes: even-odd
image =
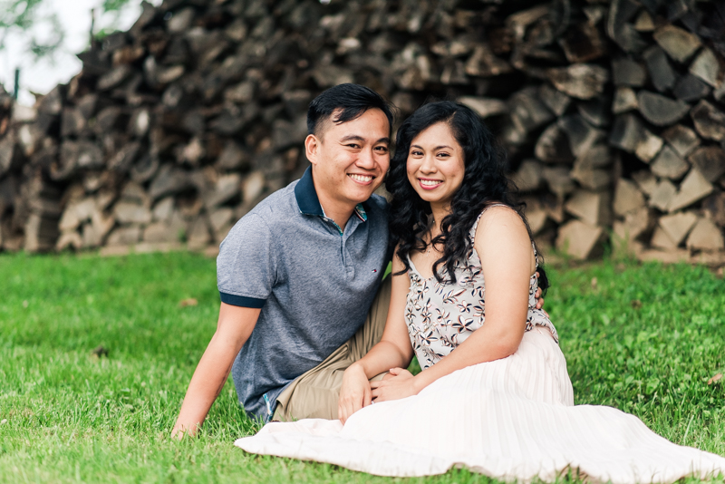
[[[453,466],[523,481],[725,473],[725,459],[672,444],[632,415],[574,406],[556,329],[533,298],[547,286],[536,246],[472,111],[434,102],[413,113],[387,188],[390,313],[382,341],[344,374],[340,421],[267,424],[239,447],[388,476]],[[403,370],[413,353],[415,376]]]

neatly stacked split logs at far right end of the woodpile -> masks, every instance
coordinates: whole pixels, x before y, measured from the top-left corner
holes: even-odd
[[[614,241],[642,258],[722,264],[725,5],[663,10],[676,21],[622,11],[637,35],[615,37],[626,57],[613,63]]]

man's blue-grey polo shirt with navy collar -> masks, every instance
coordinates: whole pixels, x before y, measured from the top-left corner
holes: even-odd
[[[341,230],[324,216],[311,169],[237,222],[217,282],[222,302],[262,308],[232,368],[247,412],[267,419],[289,382],[353,336],[388,259],[385,199],[358,205]]]

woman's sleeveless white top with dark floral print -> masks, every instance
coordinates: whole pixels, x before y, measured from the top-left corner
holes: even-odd
[[[456,265],[455,284],[440,284],[435,277],[426,279],[420,276],[411,257],[408,257],[411,265],[411,270],[408,271],[411,289],[408,292],[408,304],[405,306],[405,321],[408,324],[408,334],[411,336],[413,350],[418,357],[420,368],[423,370],[438,363],[456,346],[466,341],[469,334],[481,327],[486,320],[486,289],[483,283],[481,262],[473,247],[473,240],[481,215],[488,208],[497,205],[485,208],[471,227],[469,257],[459,261]],[[534,248],[536,267],[538,267],[538,255],[533,242],[531,246]],[[445,272],[445,269],[442,271]],[[445,276],[445,274],[441,275]],[[531,276],[528,286],[526,331],[531,331],[534,326],[544,326],[558,343],[559,337],[554,324],[549,321],[544,311],[536,309],[537,288],[538,278],[535,274]]]

